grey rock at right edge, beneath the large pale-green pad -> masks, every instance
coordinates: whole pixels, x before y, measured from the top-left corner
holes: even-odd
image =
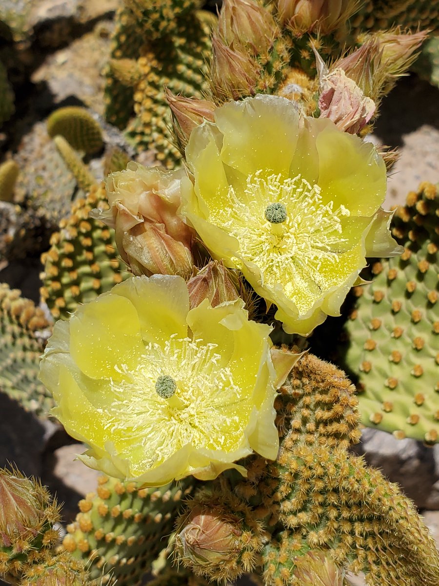
[[[396,440],[386,431],[371,428],[363,430],[361,443],[353,449],[364,455],[369,465],[380,469],[390,482],[397,482],[417,507],[432,508],[431,494],[439,481],[438,451],[419,441]]]

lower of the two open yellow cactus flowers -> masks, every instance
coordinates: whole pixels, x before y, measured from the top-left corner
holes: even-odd
[[[145,486],[245,473],[253,450],[276,458],[276,388],[298,357],[271,329],[242,299],[190,309],[183,278],[132,277],[55,324],[40,377],[91,468]]]

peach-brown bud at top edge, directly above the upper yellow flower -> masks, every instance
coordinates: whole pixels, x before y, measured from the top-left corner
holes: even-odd
[[[253,0],[224,0],[218,30],[227,45],[250,46],[256,54],[269,49],[277,27],[270,12]]]

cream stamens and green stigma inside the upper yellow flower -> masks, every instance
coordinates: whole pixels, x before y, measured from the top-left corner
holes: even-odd
[[[347,240],[342,237],[342,217],[349,211],[334,202],[323,202],[318,185],[311,186],[297,175],[247,178],[243,192],[229,186],[227,208],[210,222],[239,241],[238,267],[255,264],[261,285],[280,285],[284,295],[301,314],[309,311],[323,291],[334,286],[328,265],[336,266]]]

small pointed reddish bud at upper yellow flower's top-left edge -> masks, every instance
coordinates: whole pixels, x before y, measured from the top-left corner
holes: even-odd
[[[182,149],[186,147],[191,132],[204,120],[214,121],[215,104],[208,100],[174,96],[165,88],[164,94],[172,110],[174,131]]]

